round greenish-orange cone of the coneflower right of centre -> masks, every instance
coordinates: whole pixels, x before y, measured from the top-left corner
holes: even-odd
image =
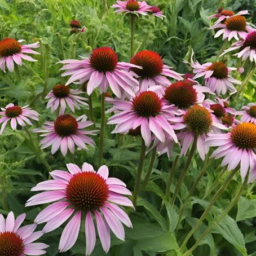
[[[188,128],[198,135],[208,133],[213,123],[210,112],[200,105],[189,108],[184,114],[183,120]]]

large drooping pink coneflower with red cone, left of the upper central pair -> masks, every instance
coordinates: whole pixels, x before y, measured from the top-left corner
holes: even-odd
[[[138,91],[138,81],[129,72],[131,67],[140,68],[136,65],[118,62],[116,53],[110,47],[100,47],[92,51],[90,58],[83,60],[63,60],[59,63],[65,64],[60,70],[67,70],[61,76],[72,75],[66,85],[76,83],[87,84],[87,94],[99,87],[100,93],[108,90],[108,85],[113,93],[118,97],[125,93],[135,96]]]

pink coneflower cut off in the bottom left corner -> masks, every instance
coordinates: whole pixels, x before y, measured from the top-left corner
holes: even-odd
[[[34,242],[43,235],[43,231],[34,230],[37,224],[20,227],[26,214],[19,215],[16,219],[10,211],[7,218],[0,214],[0,255],[1,256],[25,256],[45,254],[48,245],[42,242]]]

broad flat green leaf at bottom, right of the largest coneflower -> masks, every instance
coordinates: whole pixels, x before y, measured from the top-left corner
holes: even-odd
[[[154,237],[152,239],[140,240],[136,246],[144,251],[154,251],[156,253],[163,253],[168,250],[179,251],[179,245],[173,233],[166,233]]]

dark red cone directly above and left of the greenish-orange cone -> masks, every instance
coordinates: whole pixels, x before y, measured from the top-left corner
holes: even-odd
[[[187,82],[175,82],[166,88],[164,99],[178,108],[187,109],[197,102],[197,92]]]

